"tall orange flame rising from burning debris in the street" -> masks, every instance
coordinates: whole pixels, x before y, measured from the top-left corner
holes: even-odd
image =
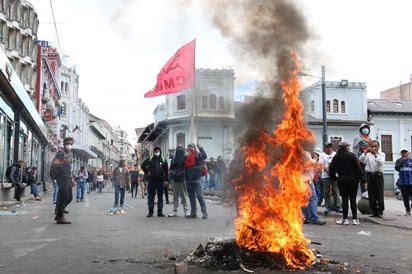
[[[292,268],[303,269],[314,260],[310,240],[302,232],[301,208],[307,205],[310,188],[304,178],[307,159],[304,144],[315,138],[306,128],[299,100],[300,64],[291,54],[294,69],[281,82],[286,106],[284,119],[273,135],[262,133],[259,140],[243,147],[245,172],[238,187],[239,217],[235,220],[239,246],[280,254]],[[270,156],[265,151],[274,151]]]

